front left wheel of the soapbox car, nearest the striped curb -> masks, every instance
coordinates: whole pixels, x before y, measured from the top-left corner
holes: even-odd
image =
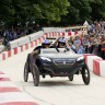
[[[33,74],[34,85],[38,86],[38,83],[39,83],[39,70],[38,70],[36,65],[32,65],[32,74]]]

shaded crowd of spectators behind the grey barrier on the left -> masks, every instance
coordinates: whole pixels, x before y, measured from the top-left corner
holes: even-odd
[[[28,27],[11,27],[0,30],[0,43],[7,46],[8,42],[18,39],[25,35],[39,31],[39,25],[33,25]]]

